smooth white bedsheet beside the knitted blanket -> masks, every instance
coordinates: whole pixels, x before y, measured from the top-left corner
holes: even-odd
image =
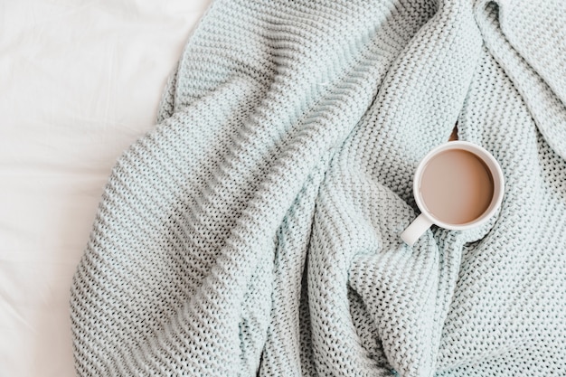
[[[0,0],[0,377],[74,375],[69,296],[120,153],[210,0]]]

